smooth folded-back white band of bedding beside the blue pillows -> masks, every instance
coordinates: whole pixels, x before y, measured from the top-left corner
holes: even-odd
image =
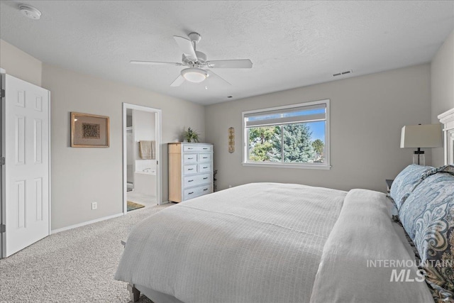
[[[389,219],[387,202],[380,192],[348,192],[323,248],[311,303],[433,302],[402,227]]]

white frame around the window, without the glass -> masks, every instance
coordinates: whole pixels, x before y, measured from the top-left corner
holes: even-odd
[[[331,169],[330,162],[330,106],[329,99],[323,99],[318,101],[310,101],[299,104],[291,104],[284,106],[270,107],[267,109],[255,109],[253,111],[243,111],[242,113],[242,126],[243,126],[243,166],[254,166],[254,167],[287,167],[287,168],[304,168],[304,169],[316,169],[316,170],[329,170]],[[319,104],[326,104],[326,123],[325,123],[325,162],[323,163],[284,163],[284,162],[248,162],[249,150],[248,150],[248,128],[245,125],[245,116],[250,114],[260,114],[265,111],[279,111],[285,109],[292,109],[301,106],[314,106]]]

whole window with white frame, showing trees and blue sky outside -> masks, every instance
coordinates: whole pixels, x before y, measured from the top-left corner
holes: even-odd
[[[243,112],[243,165],[329,169],[329,100]]]

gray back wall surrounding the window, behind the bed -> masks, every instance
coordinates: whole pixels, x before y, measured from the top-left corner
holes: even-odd
[[[321,99],[331,100],[331,170],[241,165],[242,111]],[[384,192],[384,180],[412,162],[413,150],[399,148],[401,128],[431,123],[430,99],[430,65],[424,64],[206,106],[206,138],[214,143],[218,189],[247,182],[293,182]],[[231,126],[235,153],[228,153]],[[430,164],[431,151],[426,153]]]

